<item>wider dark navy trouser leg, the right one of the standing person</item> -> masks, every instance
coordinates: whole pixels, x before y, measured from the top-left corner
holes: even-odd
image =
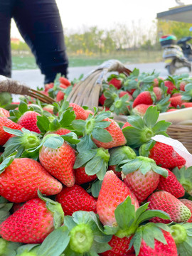
[[[66,77],[68,56],[55,0],[18,0],[14,19],[45,75],[45,83],[53,82],[57,73]]]

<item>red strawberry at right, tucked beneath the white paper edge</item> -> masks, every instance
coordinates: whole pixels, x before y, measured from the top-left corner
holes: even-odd
[[[186,164],[186,160],[176,153],[173,146],[161,142],[156,142],[153,148],[150,149],[149,157],[154,159],[157,165],[167,169]]]

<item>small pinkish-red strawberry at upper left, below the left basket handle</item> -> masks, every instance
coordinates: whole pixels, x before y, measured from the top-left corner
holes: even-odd
[[[31,132],[40,133],[37,126],[37,116],[41,116],[41,114],[35,111],[27,111],[21,115],[17,123]]]

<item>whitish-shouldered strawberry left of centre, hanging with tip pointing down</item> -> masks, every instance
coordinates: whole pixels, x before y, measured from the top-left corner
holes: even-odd
[[[39,150],[39,160],[41,165],[53,177],[57,178],[65,186],[73,186],[75,183],[75,174],[73,172],[75,150],[65,141],[62,146],[54,148],[46,146],[46,138],[52,141],[51,146],[55,144],[54,139],[58,139],[58,137],[60,136],[57,134],[46,135],[45,142]]]

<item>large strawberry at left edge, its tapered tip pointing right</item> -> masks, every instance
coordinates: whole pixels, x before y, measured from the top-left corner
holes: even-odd
[[[14,159],[0,173],[0,195],[14,203],[37,197],[38,188],[46,196],[55,195],[62,189],[61,183],[33,159]]]

